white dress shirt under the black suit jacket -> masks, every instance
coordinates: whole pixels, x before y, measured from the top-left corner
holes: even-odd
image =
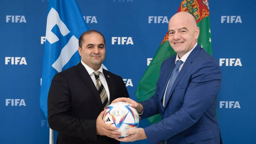
[[[97,87],[96,86],[96,79],[95,79],[95,76],[94,76],[94,71],[95,70],[90,68],[88,65],[86,65],[82,60],[81,60],[81,63],[82,63],[82,65],[84,65],[85,69],[87,70],[87,72],[91,76],[91,79],[94,82],[95,87]],[[105,76],[103,75],[102,64],[101,64],[100,69],[98,69],[97,71],[100,71],[100,76],[99,76],[100,77],[100,81],[101,81],[101,84],[104,86],[104,88],[105,88],[105,90],[107,92],[108,101],[110,101],[110,93],[109,93],[109,90],[108,90],[107,81],[105,79]]]

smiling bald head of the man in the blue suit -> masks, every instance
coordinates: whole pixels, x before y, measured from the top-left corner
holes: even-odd
[[[197,43],[199,27],[194,17],[187,12],[178,12],[169,21],[169,43],[181,58]]]

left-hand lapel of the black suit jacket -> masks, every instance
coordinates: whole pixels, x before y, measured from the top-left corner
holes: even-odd
[[[80,78],[84,81],[85,85],[88,87],[88,89],[90,90],[92,96],[95,98],[95,101],[97,102],[98,107],[103,110],[103,105],[100,99],[100,95],[98,94],[98,91],[91,79],[91,76],[89,75],[89,73],[87,72],[87,70],[85,69],[85,67],[82,65],[81,62],[79,62],[76,65],[76,72],[78,73],[78,75],[80,76]]]

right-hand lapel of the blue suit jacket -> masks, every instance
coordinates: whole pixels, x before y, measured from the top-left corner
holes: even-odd
[[[191,63],[193,62],[193,60],[197,57],[197,55],[199,54],[199,52],[202,50],[201,47],[199,47],[199,45],[197,44],[197,46],[192,50],[192,52],[190,53],[190,55],[188,56],[188,58],[186,59],[186,62],[183,64],[180,72],[177,75],[176,80],[174,81],[174,84],[172,85],[171,88],[171,92],[170,95],[172,96],[172,93],[174,92],[175,87],[177,86],[178,82],[181,80],[183,74],[186,72],[186,70],[188,69],[188,67],[190,67]],[[170,77],[169,77],[170,79]],[[169,80],[168,79],[168,80]],[[168,97],[167,102],[165,105],[167,105],[167,103],[169,102],[171,96]]]

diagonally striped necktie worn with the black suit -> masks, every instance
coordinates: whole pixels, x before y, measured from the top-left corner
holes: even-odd
[[[94,76],[96,79],[96,88],[98,90],[98,94],[101,97],[103,108],[105,109],[109,105],[109,103],[108,103],[107,92],[100,81],[100,71],[94,71]]]

